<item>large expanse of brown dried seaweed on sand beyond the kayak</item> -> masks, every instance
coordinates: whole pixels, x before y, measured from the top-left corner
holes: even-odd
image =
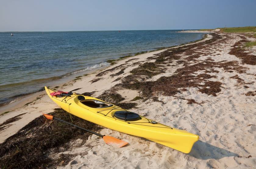
[[[214,68],[222,68],[226,72],[236,71],[245,73],[246,68],[239,66],[237,61],[221,61],[214,62],[213,59],[198,60],[200,56],[206,56],[212,44],[225,43],[229,39],[229,35],[211,34],[212,39],[204,42],[198,42],[187,46],[167,49],[155,56],[149,57],[148,60],[155,59],[155,62],[148,62],[130,71],[130,75],[122,79],[122,83],[117,84],[113,88],[126,88],[130,90],[139,90],[141,96],[149,99],[152,96],[165,95],[175,96],[177,93],[182,93],[188,87],[195,87],[201,93],[217,96],[222,88],[222,83],[211,81],[211,78],[217,78],[207,73],[219,73]],[[182,56],[187,56],[183,58]],[[172,76],[162,76],[156,81],[145,81],[152,76],[164,73],[166,65],[177,61],[177,64],[183,64],[182,68],[175,71]],[[191,61],[194,64],[191,64]],[[197,74],[196,72],[204,72]],[[194,103],[191,101],[189,103]]]

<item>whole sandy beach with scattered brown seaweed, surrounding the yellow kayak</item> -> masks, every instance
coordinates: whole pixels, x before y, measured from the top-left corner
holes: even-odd
[[[101,134],[129,142],[108,146],[95,135],[73,137],[79,146],[58,168],[255,168],[256,48],[241,50],[249,34],[210,32],[203,40],[137,56],[77,77],[56,88],[77,89],[141,116],[199,135],[189,154],[107,128]],[[55,86],[51,86],[54,88]],[[121,96],[113,100],[110,95]],[[137,98],[137,99],[134,99]],[[0,107],[0,143],[42,113],[59,108],[44,91]],[[7,120],[14,118],[10,123]],[[3,125],[4,124],[4,125]]]

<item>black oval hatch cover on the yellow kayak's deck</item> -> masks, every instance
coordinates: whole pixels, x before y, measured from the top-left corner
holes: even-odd
[[[123,121],[137,121],[140,120],[140,115],[130,111],[116,111],[114,117]]]

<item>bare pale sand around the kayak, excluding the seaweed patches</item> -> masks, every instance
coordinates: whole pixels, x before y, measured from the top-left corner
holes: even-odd
[[[211,37],[209,36],[208,38]],[[232,49],[231,46],[239,40],[240,37],[237,34],[231,34],[228,42],[210,46],[207,51],[203,52],[210,51],[211,54],[201,56],[197,60],[200,61],[207,58],[211,58],[215,62],[236,60],[242,65],[239,58],[228,54]],[[164,50],[127,58],[106,69],[124,64],[127,60],[133,58],[137,58],[137,60],[131,60],[128,62],[129,64],[139,61],[146,62],[148,57],[162,51]],[[158,96],[159,100],[164,104],[153,102],[152,100],[145,102],[139,100],[138,108],[131,110],[166,125],[198,134],[200,140],[195,143],[190,154],[181,153],[144,138],[103,129],[100,131],[101,134],[117,137],[129,142],[129,144],[122,148],[115,148],[105,144],[99,137],[92,135],[83,147],[64,152],[81,154],[77,155],[64,168],[255,168],[256,97],[246,96],[244,93],[255,91],[256,83],[246,84],[246,86],[249,86],[246,89],[244,85],[238,84],[236,79],[229,78],[238,75],[241,79],[244,79],[245,83],[256,82],[256,66],[243,66],[248,68],[247,73],[238,73],[236,71],[228,73],[221,68],[215,68],[219,73],[209,73],[217,76],[217,78],[211,78],[210,80],[223,83],[222,91],[217,93],[216,97],[200,93],[197,88],[187,88],[187,91],[176,95],[186,99],[194,99],[199,103],[205,101],[206,103],[202,104],[202,106],[187,104],[187,100],[177,99],[172,96]],[[103,79],[91,84],[89,81],[98,78],[95,77],[96,73],[93,73],[82,77],[81,80],[76,82],[70,82],[68,86],[64,86],[61,89],[70,91],[82,88],[76,92],[97,91],[93,96],[99,96],[105,90],[119,83],[119,81],[113,82],[115,79],[128,76],[130,70],[136,67],[130,66],[124,70],[125,73],[115,77],[109,75],[117,73],[119,69],[108,72],[102,76]],[[149,80],[156,80],[161,76],[171,76],[180,67],[182,67],[182,64],[173,63],[171,66],[166,67],[165,73],[153,76]],[[119,90],[118,93],[126,98],[124,101],[129,101],[138,96],[140,91]],[[14,125],[0,133],[1,142],[35,117],[40,116],[41,113],[49,113],[54,108],[57,108],[45,94],[42,94],[40,99],[34,100],[28,106],[23,106],[24,102],[20,103],[20,105],[16,103],[15,107],[10,109],[12,112],[0,117],[0,123],[2,123],[11,117],[27,112],[22,116],[21,120],[14,122]],[[1,107],[0,110],[7,109]]]

